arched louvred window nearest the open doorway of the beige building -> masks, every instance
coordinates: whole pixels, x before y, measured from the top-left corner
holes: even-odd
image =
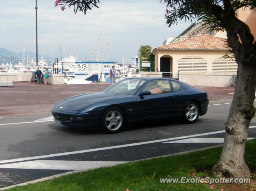
[[[207,72],[207,61],[199,56],[186,56],[178,61],[178,71]]]

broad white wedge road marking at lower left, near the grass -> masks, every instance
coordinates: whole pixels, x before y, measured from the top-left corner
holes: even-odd
[[[42,169],[42,170],[86,170],[108,165],[118,165],[128,161],[65,161],[65,160],[34,160],[0,165],[8,169]]]

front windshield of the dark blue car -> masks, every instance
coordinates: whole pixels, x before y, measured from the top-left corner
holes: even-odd
[[[108,87],[105,92],[134,95],[145,82],[143,79],[124,79]]]

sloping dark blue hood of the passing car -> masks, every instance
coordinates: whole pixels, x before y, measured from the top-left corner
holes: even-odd
[[[102,102],[104,100],[122,98],[124,96],[129,95],[120,95],[105,92],[76,95],[58,102],[58,104],[54,106],[54,110],[73,113],[84,110],[94,103]]]

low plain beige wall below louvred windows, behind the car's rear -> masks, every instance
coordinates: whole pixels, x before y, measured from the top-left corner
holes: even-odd
[[[179,81],[196,86],[231,86],[236,73],[180,72]]]

